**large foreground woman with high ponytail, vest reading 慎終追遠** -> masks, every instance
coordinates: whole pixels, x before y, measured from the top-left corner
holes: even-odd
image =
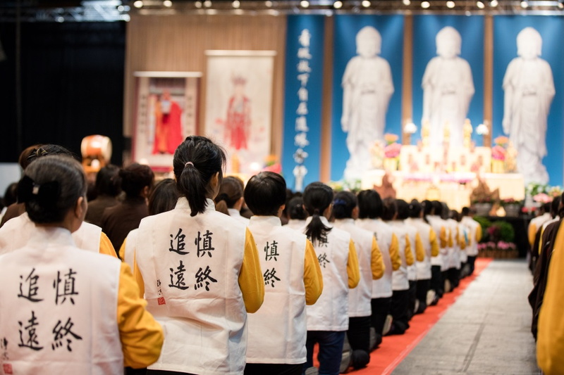
[[[215,210],[224,151],[203,136],[176,149],[176,207],[145,217],[135,261],[148,310],[165,331],[147,374],[240,375],[245,369],[247,312],[264,298],[255,239],[245,224]]]

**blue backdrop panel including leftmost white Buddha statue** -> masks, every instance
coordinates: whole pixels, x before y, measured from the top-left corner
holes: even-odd
[[[347,179],[358,178],[354,175],[372,165],[369,148],[374,140],[384,133],[401,135],[403,24],[403,15],[335,16],[333,181],[343,179],[345,168]],[[352,158],[349,149],[355,151]]]

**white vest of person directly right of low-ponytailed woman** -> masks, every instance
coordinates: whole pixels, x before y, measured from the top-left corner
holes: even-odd
[[[335,220],[335,227],[350,234],[355,243],[360,281],[348,292],[348,316],[369,317],[372,314],[372,240],[374,234],[355,225],[353,219]]]

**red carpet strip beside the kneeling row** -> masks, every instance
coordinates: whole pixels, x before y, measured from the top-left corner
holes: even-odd
[[[359,371],[351,371],[350,374],[355,375],[376,375],[391,374],[393,369],[415,348],[417,343],[424,338],[432,326],[441,319],[443,314],[448,310],[455,300],[461,295],[467,286],[485,269],[491,259],[477,258],[476,268],[471,277],[466,277],[460,281],[460,285],[452,293],[445,293],[443,298],[436,306],[427,307],[423,314],[418,314],[411,319],[410,329],[400,336],[386,336],[380,347],[370,357],[370,363],[367,368]]]

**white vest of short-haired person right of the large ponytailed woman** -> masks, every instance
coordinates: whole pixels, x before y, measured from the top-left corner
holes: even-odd
[[[247,363],[305,362],[305,234],[274,216],[249,223],[264,276],[264,303],[247,321]]]

